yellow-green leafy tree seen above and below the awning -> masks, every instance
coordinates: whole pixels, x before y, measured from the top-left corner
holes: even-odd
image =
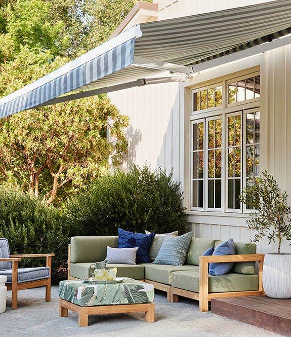
[[[83,2],[75,3],[77,12]],[[59,0],[17,0],[6,5],[0,33],[1,96],[68,62],[64,50],[73,34],[73,30],[65,36],[63,32],[70,22],[66,13],[72,1],[61,5]],[[56,12],[52,20],[51,13]],[[2,119],[0,182],[17,184],[50,204],[104,172],[109,156],[113,165],[120,163],[127,149],[123,131],[127,125],[128,118],[105,95]],[[108,129],[111,143],[106,138]]]

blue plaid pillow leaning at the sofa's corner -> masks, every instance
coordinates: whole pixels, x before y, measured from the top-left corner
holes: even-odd
[[[166,236],[153,263],[156,265],[184,265],[191,238],[192,232],[177,237]]]

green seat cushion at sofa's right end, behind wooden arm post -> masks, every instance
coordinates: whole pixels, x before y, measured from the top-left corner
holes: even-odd
[[[209,292],[251,291],[259,289],[258,275],[228,273],[209,275]],[[171,285],[175,288],[199,292],[199,270],[172,273]]]

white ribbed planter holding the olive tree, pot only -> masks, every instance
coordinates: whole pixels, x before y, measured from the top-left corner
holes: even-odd
[[[263,287],[272,298],[291,298],[291,254],[265,254]]]

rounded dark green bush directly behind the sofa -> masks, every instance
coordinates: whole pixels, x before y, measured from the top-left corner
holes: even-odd
[[[144,166],[116,170],[68,200],[68,216],[78,235],[117,235],[117,229],[185,233],[180,183],[173,175]]]

